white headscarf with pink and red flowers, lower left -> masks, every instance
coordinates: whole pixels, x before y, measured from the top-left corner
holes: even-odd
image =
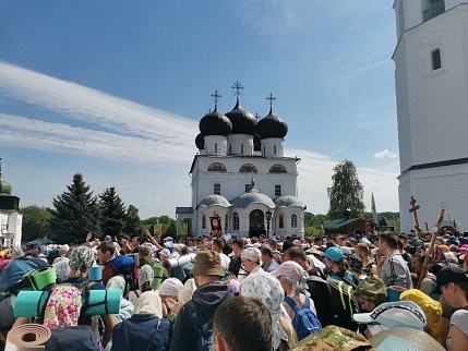
[[[75,327],[80,310],[80,290],[72,286],[58,286],[47,302],[44,325],[49,329]]]

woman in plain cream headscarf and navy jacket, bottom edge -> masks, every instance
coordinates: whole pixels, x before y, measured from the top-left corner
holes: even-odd
[[[142,293],[133,316],[116,325],[111,351],[166,351],[172,337],[171,323],[163,318],[163,303],[157,291]]]

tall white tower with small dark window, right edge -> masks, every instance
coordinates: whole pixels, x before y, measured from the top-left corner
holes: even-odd
[[[395,0],[401,230],[456,220],[468,230],[468,1]]]

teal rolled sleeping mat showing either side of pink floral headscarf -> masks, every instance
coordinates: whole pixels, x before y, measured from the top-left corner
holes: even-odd
[[[20,291],[14,304],[15,317],[37,317],[47,303],[48,291]],[[82,298],[82,304],[84,299]],[[107,308],[106,308],[107,307]],[[85,315],[118,314],[120,311],[120,290],[91,290]]]

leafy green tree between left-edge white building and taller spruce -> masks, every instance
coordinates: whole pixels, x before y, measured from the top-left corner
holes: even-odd
[[[36,205],[20,209],[23,214],[22,240],[31,241],[38,238],[50,238],[50,211],[46,207]]]

